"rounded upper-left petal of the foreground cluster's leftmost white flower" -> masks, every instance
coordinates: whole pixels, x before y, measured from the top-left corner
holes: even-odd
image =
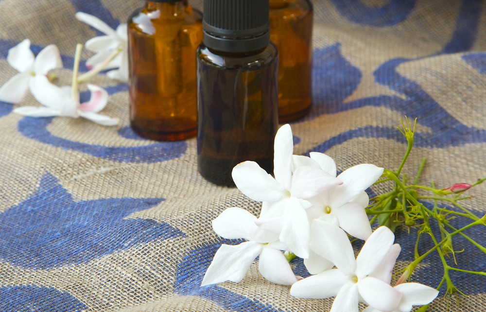
[[[244,238],[250,241],[250,228],[257,217],[242,208],[227,208],[212,221],[213,230],[228,240]]]

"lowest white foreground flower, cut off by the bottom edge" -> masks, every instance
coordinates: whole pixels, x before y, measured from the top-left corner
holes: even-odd
[[[402,294],[378,278],[387,278],[391,274],[391,270],[388,272],[390,266],[383,265],[383,261],[395,263],[396,260],[397,248],[392,249],[395,235],[388,227],[375,230],[356,259],[341,228],[315,220],[311,231],[311,248],[333,262],[337,269],[296,282],[290,290],[291,295],[314,299],[335,296],[331,312],[357,312],[360,299],[379,311],[398,308]]]

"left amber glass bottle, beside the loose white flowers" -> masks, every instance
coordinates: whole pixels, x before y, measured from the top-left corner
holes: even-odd
[[[196,135],[194,55],[201,22],[187,0],[147,1],[128,19],[130,124],[140,136],[172,141]]]

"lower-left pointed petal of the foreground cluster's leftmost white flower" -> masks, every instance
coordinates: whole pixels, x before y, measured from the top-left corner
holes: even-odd
[[[261,248],[261,244],[255,242],[244,242],[236,246],[221,245],[204,275],[201,286],[226,280],[240,282],[253,260],[260,254]]]

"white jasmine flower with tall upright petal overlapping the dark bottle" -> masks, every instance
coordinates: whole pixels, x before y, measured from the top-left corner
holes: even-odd
[[[292,174],[294,140],[292,129],[285,124],[278,129],[274,145],[274,175],[254,161],[235,166],[233,180],[249,198],[267,202],[259,221],[262,230],[278,234],[290,251],[300,258],[309,258],[310,225],[302,201],[342,182],[320,168],[302,166]],[[310,205],[309,205],[310,206]]]

